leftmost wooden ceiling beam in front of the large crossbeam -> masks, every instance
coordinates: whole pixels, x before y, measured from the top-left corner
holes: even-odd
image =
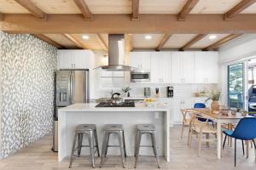
[[[40,8],[35,6],[31,0],[15,0],[16,3],[19,3],[20,6],[26,8],[32,15],[37,19],[46,20],[47,14],[45,14]]]

